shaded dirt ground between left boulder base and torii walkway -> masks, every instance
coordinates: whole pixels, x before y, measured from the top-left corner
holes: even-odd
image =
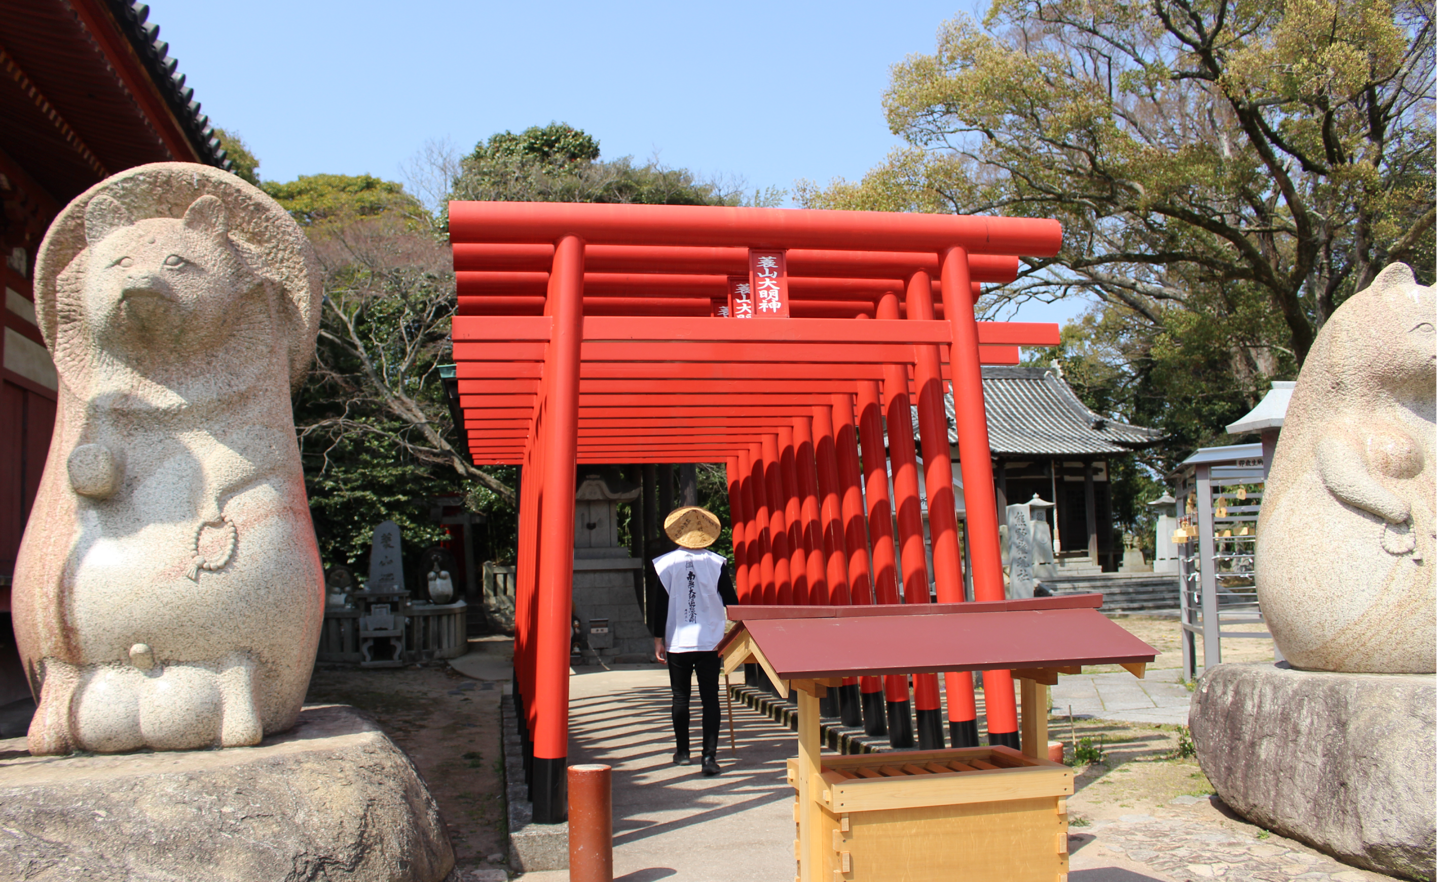
[[[375,717],[438,802],[456,866],[470,869],[503,863],[507,852],[502,687],[470,679],[448,662],[365,671],[325,667],[309,681],[306,702],[349,704]]]

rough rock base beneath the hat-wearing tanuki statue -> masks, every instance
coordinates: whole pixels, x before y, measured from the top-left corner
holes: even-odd
[[[342,705],[257,747],[32,757],[0,741],[0,879],[438,882],[454,865],[408,757]]]

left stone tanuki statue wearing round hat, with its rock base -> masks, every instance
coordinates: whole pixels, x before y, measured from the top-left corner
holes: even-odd
[[[404,753],[352,708],[300,712],[326,589],[290,389],[319,297],[299,226],[207,165],[106,178],[46,234],[57,415],[13,583],[39,707],[0,743],[0,876],[453,866]]]

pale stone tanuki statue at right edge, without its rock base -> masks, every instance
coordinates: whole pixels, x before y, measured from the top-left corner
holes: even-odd
[[[1309,671],[1437,668],[1437,303],[1394,263],[1298,376],[1257,519],[1257,598]]]

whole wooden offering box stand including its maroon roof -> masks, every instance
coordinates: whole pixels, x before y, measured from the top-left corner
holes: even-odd
[[[1063,882],[1073,773],[1046,758],[1048,687],[1082,665],[1137,677],[1155,651],[1102,595],[990,603],[730,606],[724,671],[754,662],[798,700],[798,882]],[[819,697],[845,677],[1010,669],[1023,750],[825,756]]]

